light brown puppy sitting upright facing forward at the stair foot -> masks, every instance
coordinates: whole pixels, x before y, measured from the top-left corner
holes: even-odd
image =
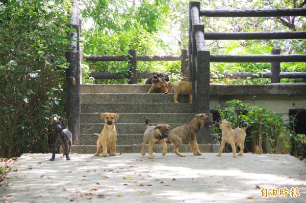
[[[100,149],[103,149],[103,156],[107,154],[116,156],[117,131],[115,128],[115,120],[118,120],[119,115],[116,113],[102,113],[101,119],[105,120],[105,125],[100,134],[94,133],[91,136],[99,137],[97,140],[97,151],[94,156],[100,155]]]

